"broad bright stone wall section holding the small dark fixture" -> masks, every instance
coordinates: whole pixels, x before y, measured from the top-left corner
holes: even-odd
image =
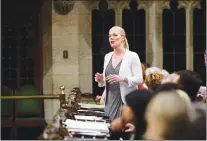
[[[73,9],[66,15],[60,15],[52,9],[52,81],[53,94],[60,93],[65,86],[68,96],[73,87],[79,87],[79,46],[80,15],[82,1],[75,1]],[[80,10],[80,11],[79,11]],[[88,27],[85,27],[88,28]],[[63,57],[68,52],[68,58]],[[59,100],[52,100],[52,115],[60,108]],[[51,117],[52,118],[52,117]]]

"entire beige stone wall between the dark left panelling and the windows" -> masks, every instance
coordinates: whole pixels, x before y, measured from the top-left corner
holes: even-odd
[[[49,6],[45,2],[43,9]],[[64,85],[66,94],[73,87],[83,92],[92,91],[92,55],[91,55],[91,11],[87,1],[75,1],[67,15],[59,15],[52,10],[52,23],[43,26],[43,92],[59,94]],[[51,13],[51,11],[49,11]],[[43,12],[46,18],[49,15]],[[49,21],[49,20],[48,20]],[[49,33],[52,26],[52,33]],[[48,40],[48,39],[50,39]],[[63,58],[63,51],[68,58]],[[45,101],[45,119],[50,122],[59,108],[59,100]]]

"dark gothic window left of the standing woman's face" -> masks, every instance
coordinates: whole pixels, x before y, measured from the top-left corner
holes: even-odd
[[[96,72],[103,72],[104,56],[112,51],[109,45],[109,29],[115,25],[115,12],[108,9],[104,14],[100,10],[92,11],[92,65],[93,65],[93,93],[102,94],[103,88],[94,81]]]

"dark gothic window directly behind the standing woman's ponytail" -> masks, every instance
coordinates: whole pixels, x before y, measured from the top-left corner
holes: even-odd
[[[139,9],[135,14],[130,9],[122,11],[122,26],[126,32],[129,49],[138,53],[140,61],[146,61],[145,10]]]

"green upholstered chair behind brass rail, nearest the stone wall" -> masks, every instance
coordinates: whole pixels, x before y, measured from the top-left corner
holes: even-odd
[[[34,86],[25,85],[18,89],[15,95],[40,95],[40,92]],[[18,127],[44,127],[46,125],[43,102],[43,99],[21,99],[15,101],[15,139]]]

